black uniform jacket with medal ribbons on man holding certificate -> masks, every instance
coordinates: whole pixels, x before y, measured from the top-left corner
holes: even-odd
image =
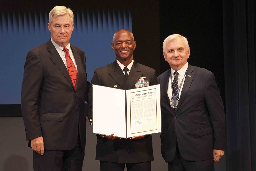
[[[134,89],[140,77],[146,77],[149,85],[157,84],[156,71],[134,61],[127,80],[117,61],[94,70],[91,83],[106,87],[116,85],[117,89]],[[92,117],[92,90],[89,91],[88,118]],[[106,102],[107,103],[107,102]],[[92,122],[91,122],[92,123]],[[111,123],[110,123],[111,124]],[[115,132],[113,132],[115,133]],[[108,140],[97,135],[96,160],[116,163],[139,163],[153,160],[152,137],[147,135],[141,139]]]

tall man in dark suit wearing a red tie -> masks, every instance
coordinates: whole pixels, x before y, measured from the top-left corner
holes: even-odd
[[[85,53],[69,43],[73,12],[49,14],[51,39],[27,54],[21,107],[34,170],[82,170],[88,99]]]

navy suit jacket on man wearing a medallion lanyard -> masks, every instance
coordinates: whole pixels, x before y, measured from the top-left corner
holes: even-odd
[[[206,69],[188,66],[176,110],[167,95],[171,70],[157,77],[161,89],[162,156],[174,159],[176,144],[185,160],[213,158],[213,149],[225,149],[225,115],[214,74]]]

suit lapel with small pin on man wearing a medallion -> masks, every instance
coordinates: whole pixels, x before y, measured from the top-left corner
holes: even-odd
[[[181,91],[181,98],[179,100],[179,103],[178,103],[178,106],[177,106],[177,109],[175,111],[177,111],[179,109],[179,107],[181,106],[182,102],[184,101],[187,93],[188,93],[188,89],[192,83],[192,80],[194,78],[194,73],[193,72],[193,67],[191,65],[188,65],[188,71],[187,71],[187,74],[185,75],[185,81],[184,81],[184,84],[183,84],[183,88],[182,88],[182,91]],[[191,77],[188,77],[187,75],[190,75]]]

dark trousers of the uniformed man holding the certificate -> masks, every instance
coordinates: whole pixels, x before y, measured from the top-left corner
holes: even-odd
[[[151,171],[151,162],[142,163],[113,163],[100,161],[100,171],[124,171],[126,165],[127,171]]]

